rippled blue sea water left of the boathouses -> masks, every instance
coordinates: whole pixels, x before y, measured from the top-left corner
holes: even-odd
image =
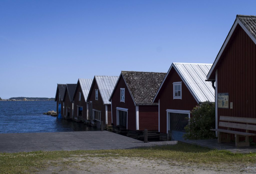
[[[43,115],[56,111],[55,101],[0,101],[0,133],[95,130],[83,123]]]

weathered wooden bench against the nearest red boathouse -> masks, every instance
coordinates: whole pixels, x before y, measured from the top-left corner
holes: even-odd
[[[230,123],[230,122],[238,122],[238,123]],[[230,134],[235,134],[236,147],[250,146],[249,136],[256,136],[256,134],[249,133],[249,130],[256,131],[256,125],[250,125],[248,123],[256,124],[256,118],[220,116],[219,126],[227,127],[228,129],[210,129],[210,130],[218,131],[218,143],[230,142]],[[230,128],[244,129],[246,130],[246,132],[233,131],[233,130],[230,130]],[[221,135],[223,134],[227,134],[227,139],[222,139]],[[246,137],[245,142],[239,142],[240,136]]]

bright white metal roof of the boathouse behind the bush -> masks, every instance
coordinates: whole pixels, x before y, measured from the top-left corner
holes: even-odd
[[[198,103],[204,101],[215,102],[215,90],[212,83],[205,81],[211,66],[212,64],[205,63],[172,63],[153,101],[157,102],[155,99],[170,70],[174,68]]]

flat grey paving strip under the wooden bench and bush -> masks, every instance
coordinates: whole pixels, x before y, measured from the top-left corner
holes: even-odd
[[[256,152],[256,146],[236,147],[235,143],[218,143],[217,139],[211,140],[182,140],[181,142],[195,144],[202,147],[218,150],[228,150],[232,153],[250,153]]]

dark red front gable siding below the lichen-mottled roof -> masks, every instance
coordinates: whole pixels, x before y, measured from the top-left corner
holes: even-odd
[[[120,88],[125,88],[125,102],[120,102]],[[113,115],[113,125],[116,126],[116,107],[128,109],[128,130],[136,130],[136,108],[132,100],[132,96],[124,82],[123,77],[117,82],[115,91],[112,96],[112,115]]]

